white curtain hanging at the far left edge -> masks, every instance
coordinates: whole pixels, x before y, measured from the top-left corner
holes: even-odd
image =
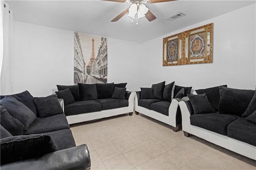
[[[1,95],[8,95],[13,93],[13,56],[12,56],[12,10],[9,9],[9,5],[6,2],[1,2],[1,74],[0,74],[0,86]]]

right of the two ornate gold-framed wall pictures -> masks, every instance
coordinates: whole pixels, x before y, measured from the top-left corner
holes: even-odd
[[[184,64],[212,63],[212,27],[213,23],[184,32]]]

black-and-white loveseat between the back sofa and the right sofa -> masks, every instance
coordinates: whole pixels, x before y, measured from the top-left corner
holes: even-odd
[[[165,81],[153,84],[151,88],[141,88],[141,91],[136,91],[135,113],[166,123],[176,132],[181,125],[181,113],[174,98],[190,94],[191,89],[175,85],[175,82],[165,85]]]

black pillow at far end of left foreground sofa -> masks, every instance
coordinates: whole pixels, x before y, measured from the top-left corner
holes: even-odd
[[[62,107],[56,95],[35,97],[34,100],[36,103],[36,109],[38,111],[38,117],[40,118],[63,113]]]

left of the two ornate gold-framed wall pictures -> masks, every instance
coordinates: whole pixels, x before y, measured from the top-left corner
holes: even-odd
[[[163,66],[183,64],[182,37],[182,34],[175,34],[163,38]]]

